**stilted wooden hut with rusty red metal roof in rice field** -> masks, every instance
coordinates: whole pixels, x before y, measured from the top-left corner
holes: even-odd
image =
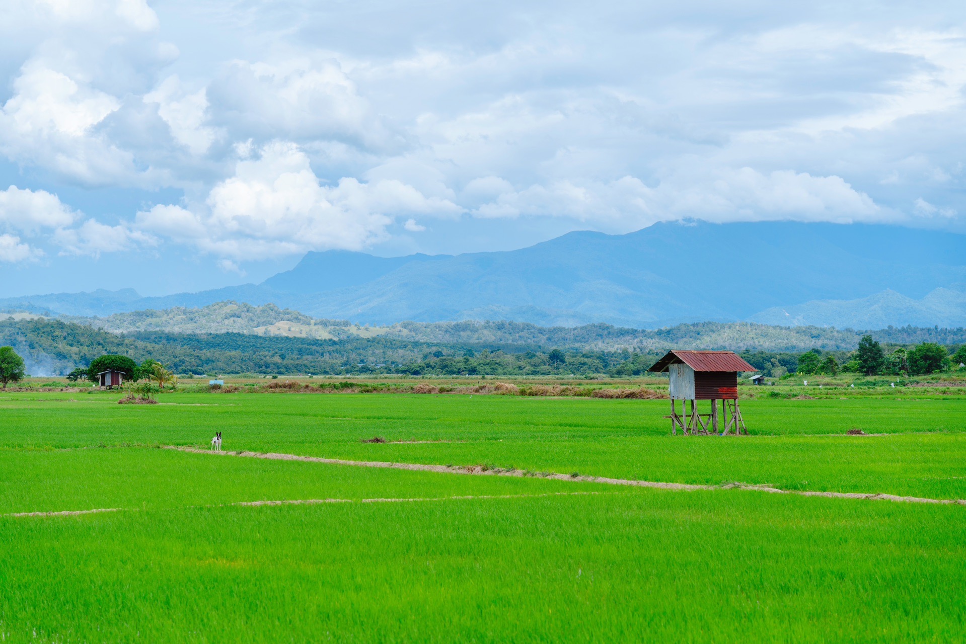
[[[721,401],[725,431],[748,434],[738,406],[738,373],[754,367],[734,351],[671,350],[648,371],[668,372],[670,378],[670,431],[677,434],[719,434],[718,402]],[[681,413],[677,413],[681,401]],[[710,413],[698,413],[697,401],[711,401]],[[691,403],[691,413],[686,406]]]

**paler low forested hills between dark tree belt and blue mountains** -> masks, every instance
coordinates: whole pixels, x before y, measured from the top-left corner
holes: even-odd
[[[3,314],[0,314],[0,318]],[[160,311],[134,311],[103,318],[63,318],[115,333],[250,333],[267,336],[349,340],[382,337],[418,343],[469,346],[515,345],[525,350],[852,350],[867,331],[819,326],[774,326],[749,322],[698,322],[644,330],[584,324],[538,326],[529,322],[400,322],[387,326],[360,326],[339,320],[316,319],[273,304],[252,306],[216,302],[202,308],[175,307]],[[962,342],[962,329],[901,327],[872,334],[895,344]]]

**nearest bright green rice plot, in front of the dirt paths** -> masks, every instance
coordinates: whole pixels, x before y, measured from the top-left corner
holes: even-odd
[[[964,510],[639,490],[0,518],[0,630],[57,642],[956,641]]]

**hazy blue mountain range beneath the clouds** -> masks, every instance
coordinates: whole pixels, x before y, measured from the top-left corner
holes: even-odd
[[[14,297],[0,299],[0,310],[106,316],[223,300],[370,324],[962,326],[966,236],[860,224],[662,223],[619,236],[570,233],[507,252],[313,252],[259,285],[163,297]]]

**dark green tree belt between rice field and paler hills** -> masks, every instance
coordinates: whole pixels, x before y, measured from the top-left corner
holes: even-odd
[[[173,374],[314,374],[438,376],[641,376],[664,353],[660,350],[541,350],[526,345],[425,343],[384,337],[344,340],[265,337],[241,333],[113,334],[60,321],[0,322],[0,344],[27,358],[44,361],[61,374],[91,378],[103,355],[125,356],[126,369],[164,365]],[[955,350],[952,350],[955,349]],[[740,355],[765,376],[786,374],[908,374],[943,371],[966,363],[966,349],[923,342],[912,347],[883,346],[870,335],[854,351],[805,352],[745,350]],[[131,366],[133,365],[133,366]],[[54,371],[57,373],[57,371]],[[126,372],[127,373],[127,372]],[[141,373],[148,373],[147,371]],[[136,378],[135,378],[136,379]]]

